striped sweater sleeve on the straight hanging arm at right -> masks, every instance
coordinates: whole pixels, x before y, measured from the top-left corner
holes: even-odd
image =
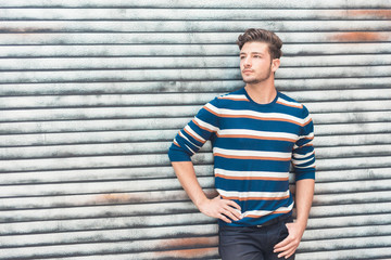
[[[295,180],[315,179],[314,123],[306,107],[303,107],[301,135],[294,144],[292,165]]]

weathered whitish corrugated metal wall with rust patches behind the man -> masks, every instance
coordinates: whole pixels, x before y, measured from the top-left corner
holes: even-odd
[[[218,259],[166,156],[243,86],[237,36],[285,41],[316,129],[297,259],[391,258],[391,2],[0,0],[0,259]],[[194,157],[213,194],[212,156]]]

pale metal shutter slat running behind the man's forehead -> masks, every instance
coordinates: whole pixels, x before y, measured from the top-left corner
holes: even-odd
[[[390,43],[388,42],[361,42],[361,43],[306,43],[305,50],[302,44],[285,43],[283,44],[283,60],[298,54],[305,55],[329,55],[340,54],[378,54],[390,53]],[[357,49],[360,51],[357,51]],[[239,50],[232,44],[176,44],[175,48],[167,46],[153,44],[129,44],[129,46],[111,46],[94,44],[94,46],[67,46],[64,49],[62,46],[2,46],[0,49],[1,57],[112,57],[112,56],[169,56],[172,58],[177,56],[236,56]],[[327,54],[327,56],[325,56]],[[72,60],[71,60],[72,61]],[[147,60],[149,61],[149,60]],[[147,62],[144,61],[144,62]],[[237,62],[237,61],[235,61]]]

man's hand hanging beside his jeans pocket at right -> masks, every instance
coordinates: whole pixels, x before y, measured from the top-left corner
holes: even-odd
[[[287,259],[298,249],[305,225],[303,226],[299,223],[287,223],[286,225],[289,235],[274,247],[274,251],[281,252],[278,255],[278,258],[285,257]]]

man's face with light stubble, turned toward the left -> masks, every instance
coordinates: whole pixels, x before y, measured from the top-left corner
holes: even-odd
[[[278,65],[279,60],[272,60],[265,42],[247,42],[240,51],[240,70],[245,83],[254,84],[269,79]]]

